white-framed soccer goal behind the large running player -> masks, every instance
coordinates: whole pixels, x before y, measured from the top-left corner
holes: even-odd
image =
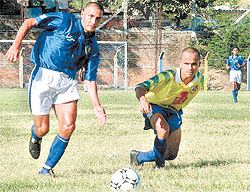
[[[0,41],[0,86],[27,87],[34,65],[30,53],[35,41],[23,41],[19,61],[9,62],[5,54],[12,40]],[[108,88],[127,89],[127,43],[122,41],[99,41],[100,64],[97,84]]]

